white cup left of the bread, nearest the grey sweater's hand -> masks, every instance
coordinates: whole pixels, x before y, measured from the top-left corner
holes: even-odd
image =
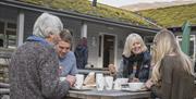
[[[76,77],[75,88],[81,89],[83,87],[83,83],[84,83],[84,75],[76,74],[75,77]]]

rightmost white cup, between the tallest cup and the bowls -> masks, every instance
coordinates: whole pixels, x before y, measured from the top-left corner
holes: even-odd
[[[113,87],[113,77],[112,76],[106,76],[105,77],[105,85],[107,90],[111,90]]]

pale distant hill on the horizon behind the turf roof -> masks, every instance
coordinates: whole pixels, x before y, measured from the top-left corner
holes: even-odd
[[[155,2],[155,3],[137,3],[137,4],[127,4],[121,7],[121,9],[125,9],[128,11],[140,11],[140,10],[149,10],[149,9],[158,9],[158,8],[167,8],[173,5],[183,5],[196,3],[196,0],[176,0],[172,2]]]

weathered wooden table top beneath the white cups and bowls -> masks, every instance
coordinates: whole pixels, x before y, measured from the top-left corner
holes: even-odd
[[[123,91],[123,90],[69,90],[65,99],[148,99],[150,91]]]

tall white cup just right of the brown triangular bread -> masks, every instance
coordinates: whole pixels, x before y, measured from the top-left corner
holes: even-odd
[[[101,73],[96,74],[96,87],[97,87],[97,90],[103,90],[105,77]]]

